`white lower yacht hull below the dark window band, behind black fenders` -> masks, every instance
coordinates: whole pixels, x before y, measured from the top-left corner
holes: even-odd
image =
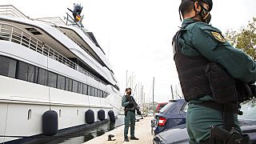
[[[95,122],[99,121],[97,113],[101,109],[105,110],[106,118],[109,110],[118,115],[118,110],[110,106],[111,98],[74,94],[4,76],[0,76],[0,86],[0,135],[42,134],[42,114],[47,110],[58,113],[58,130],[86,124],[85,114],[89,109],[94,110]],[[0,137],[0,142],[14,139],[18,138]]]

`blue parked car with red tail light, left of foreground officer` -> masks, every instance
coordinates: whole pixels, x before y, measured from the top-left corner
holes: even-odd
[[[171,100],[151,120],[151,132],[158,134],[163,130],[186,123],[186,101]]]

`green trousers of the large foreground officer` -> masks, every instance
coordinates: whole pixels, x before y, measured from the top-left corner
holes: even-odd
[[[190,144],[198,144],[209,139],[210,126],[224,126],[222,112],[190,103],[186,114],[186,128],[190,136]],[[234,130],[242,133],[238,125],[237,114],[234,114]]]

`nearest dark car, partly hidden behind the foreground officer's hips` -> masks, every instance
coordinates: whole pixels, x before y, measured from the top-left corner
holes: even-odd
[[[250,136],[253,144],[256,144],[256,98],[242,103],[243,114],[238,116],[244,134]],[[154,144],[182,144],[189,143],[189,135],[186,132],[186,124],[175,126],[169,130],[157,134],[153,140]]]

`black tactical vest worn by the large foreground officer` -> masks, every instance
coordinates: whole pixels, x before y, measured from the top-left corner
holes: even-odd
[[[173,39],[174,62],[186,101],[206,95],[212,96],[215,102],[220,103],[237,101],[234,78],[231,78],[221,66],[202,56],[189,57],[182,54],[178,43],[181,33],[182,29]]]

